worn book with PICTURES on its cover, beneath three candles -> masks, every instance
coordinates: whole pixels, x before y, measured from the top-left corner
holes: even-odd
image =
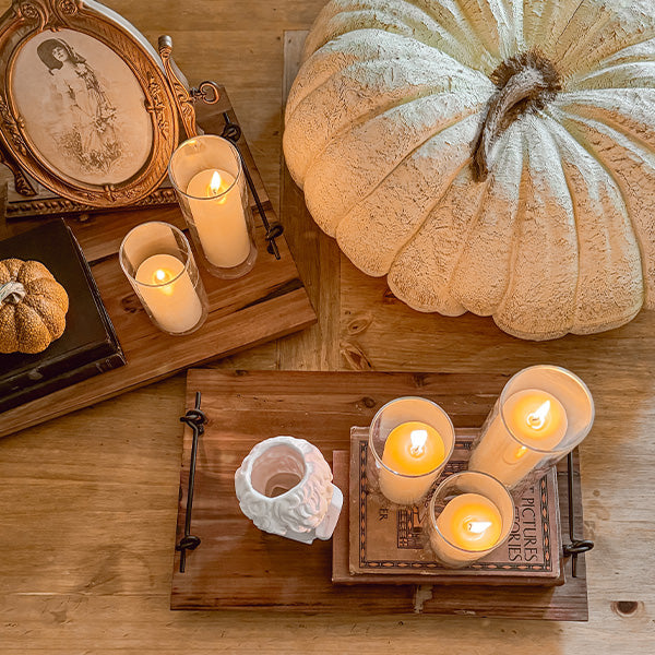
[[[456,430],[455,450],[434,486],[464,471],[477,430]],[[334,571],[333,582],[418,582],[428,584],[540,584],[564,582],[560,565],[560,524],[555,468],[538,485],[514,498],[514,525],[509,540],[464,569],[437,562],[426,528],[428,500],[420,507],[391,503],[367,480],[370,469],[368,429],[350,431],[349,565]],[[335,558],[335,565],[336,565]]]

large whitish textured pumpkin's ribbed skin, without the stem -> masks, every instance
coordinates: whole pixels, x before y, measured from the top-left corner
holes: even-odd
[[[627,323],[655,307],[654,16],[652,0],[332,1],[287,102],[289,171],[415,309],[531,340]],[[476,181],[490,76],[534,49],[561,90]]]

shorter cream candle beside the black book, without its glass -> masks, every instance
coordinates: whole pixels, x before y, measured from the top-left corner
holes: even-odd
[[[179,334],[198,325],[202,303],[179,259],[153,254],[139,266],[135,279],[142,301],[162,330]]]

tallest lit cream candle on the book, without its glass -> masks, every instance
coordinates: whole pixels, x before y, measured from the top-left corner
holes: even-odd
[[[505,487],[514,487],[547,451],[557,448],[567,427],[564,407],[552,394],[536,389],[519,391],[505,401],[481,436],[468,469],[487,473]]]

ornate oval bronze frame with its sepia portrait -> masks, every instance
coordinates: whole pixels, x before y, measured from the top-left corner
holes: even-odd
[[[0,154],[25,195],[33,178],[82,205],[135,204],[166,177],[179,122],[162,59],[106,7],[14,0],[0,19]]]

